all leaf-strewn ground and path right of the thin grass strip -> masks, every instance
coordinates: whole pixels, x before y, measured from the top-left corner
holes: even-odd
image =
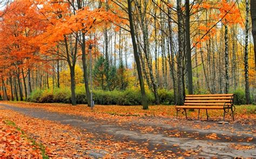
[[[0,116],[13,121],[38,143],[49,157],[256,157],[253,106],[237,107],[236,121],[218,124],[194,122],[173,106],[96,106],[6,103]],[[190,112],[196,119],[197,112]],[[202,119],[205,114],[201,113]],[[231,117],[227,116],[230,120]]]

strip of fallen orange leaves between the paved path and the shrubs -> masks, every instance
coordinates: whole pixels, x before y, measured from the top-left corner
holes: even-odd
[[[41,108],[51,112],[59,112],[74,115],[98,115],[106,118],[109,116],[158,116],[158,117],[176,117],[176,109],[173,105],[153,105],[149,106],[149,110],[142,110],[141,106],[117,106],[117,105],[96,105],[93,110],[87,105],[72,106],[71,104],[59,103],[29,103],[29,102],[4,102],[19,107]],[[237,105],[235,106],[235,120],[256,119],[255,105]],[[198,112],[188,112],[188,118],[197,119]],[[223,120],[223,110],[208,110],[211,120]],[[179,113],[179,118],[185,119],[185,115]],[[200,111],[200,118],[206,119],[205,110]],[[231,115],[226,115],[226,120],[232,120]]]

